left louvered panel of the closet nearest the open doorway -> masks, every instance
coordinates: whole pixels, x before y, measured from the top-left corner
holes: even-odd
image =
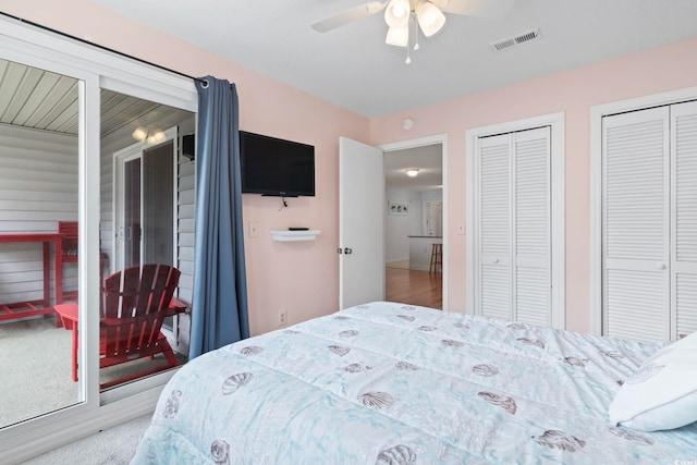
[[[511,137],[479,143],[479,305],[481,315],[511,318]]]

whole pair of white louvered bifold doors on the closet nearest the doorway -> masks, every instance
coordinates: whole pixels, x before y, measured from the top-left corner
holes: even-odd
[[[551,325],[550,129],[478,148],[476,289],[481,315]]]

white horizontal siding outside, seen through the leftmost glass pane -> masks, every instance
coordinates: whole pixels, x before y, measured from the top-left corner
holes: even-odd
[[[0,125],[0,234],[58,232],[59,221],[76,220],[77,137]],[[40,244],[0,244],[0,304],[42,298],[42,269]],[[64,264],[63,289],[76,285],[77,264]]]

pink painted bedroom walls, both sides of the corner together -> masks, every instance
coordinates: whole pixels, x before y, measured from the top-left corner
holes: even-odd
[[[588,330],[590,107],[697,85],[697,39],[693,39],[369,121],[88,0],[5,0],[2,10],[189,75],[212,74],[235,82],[242,129],[316,146],[316,197],[290,199],[290,208],[283,210],[276,198],[244,198],[245,227],[254,221],[260,230],[258,238],[246,238],[254,334],[277,329],[279,310],[286,310],[293,323],[337,308],[339,136],[379,145],[448,134],[448,298],[451,310],[462,311],[466,236],[457,235],[456,229],[466,218],[465,132],[559,111],[566,118],[567,328]],[[406,117],[416,121],[408,133],[401,127]],[[269,238],[269,229],[290,225],[322,233],[314,243]]]

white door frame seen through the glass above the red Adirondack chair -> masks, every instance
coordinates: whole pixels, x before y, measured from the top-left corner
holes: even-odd
[[[123,183],[124,183],[124,166],[127,161],[132,161],[138,158],[143,158],[145,151],[149,148],[157,147],[162,144],[167,144],[171,142],[172,146],[172,162],[174,163],[174,180],[173,180],[173,192],[172,192],[172,211],[173,218],[176,219],[176,154],[178,154],[178,127],[170,127],[169,130],[163,131],[164,140],[161,140],[157,144],[150,144],[147,140],[138,142],[127,146],[126,148],[122,148],[119,151],[113,154],[113,210],[112,210],[112,221],[113,221],[113,270],[123,269],[123,244],[120,237],[120,228],[123,225],[123,217],[124,217],[124,205],[123,205]],[[143,170],[143,164],[140,164],[140,170]],[[140,178],[140,203],[143,203],[143,178]],[[143,223],[143,209],[140,209],[140,224]],[[176,261],[176,228],[172,229],[173,244],[174,249],[172,250],[172,259]],[[143,254],[145,252],[143,243],[140,244],[140,259],[139,262],[143,264]]]

